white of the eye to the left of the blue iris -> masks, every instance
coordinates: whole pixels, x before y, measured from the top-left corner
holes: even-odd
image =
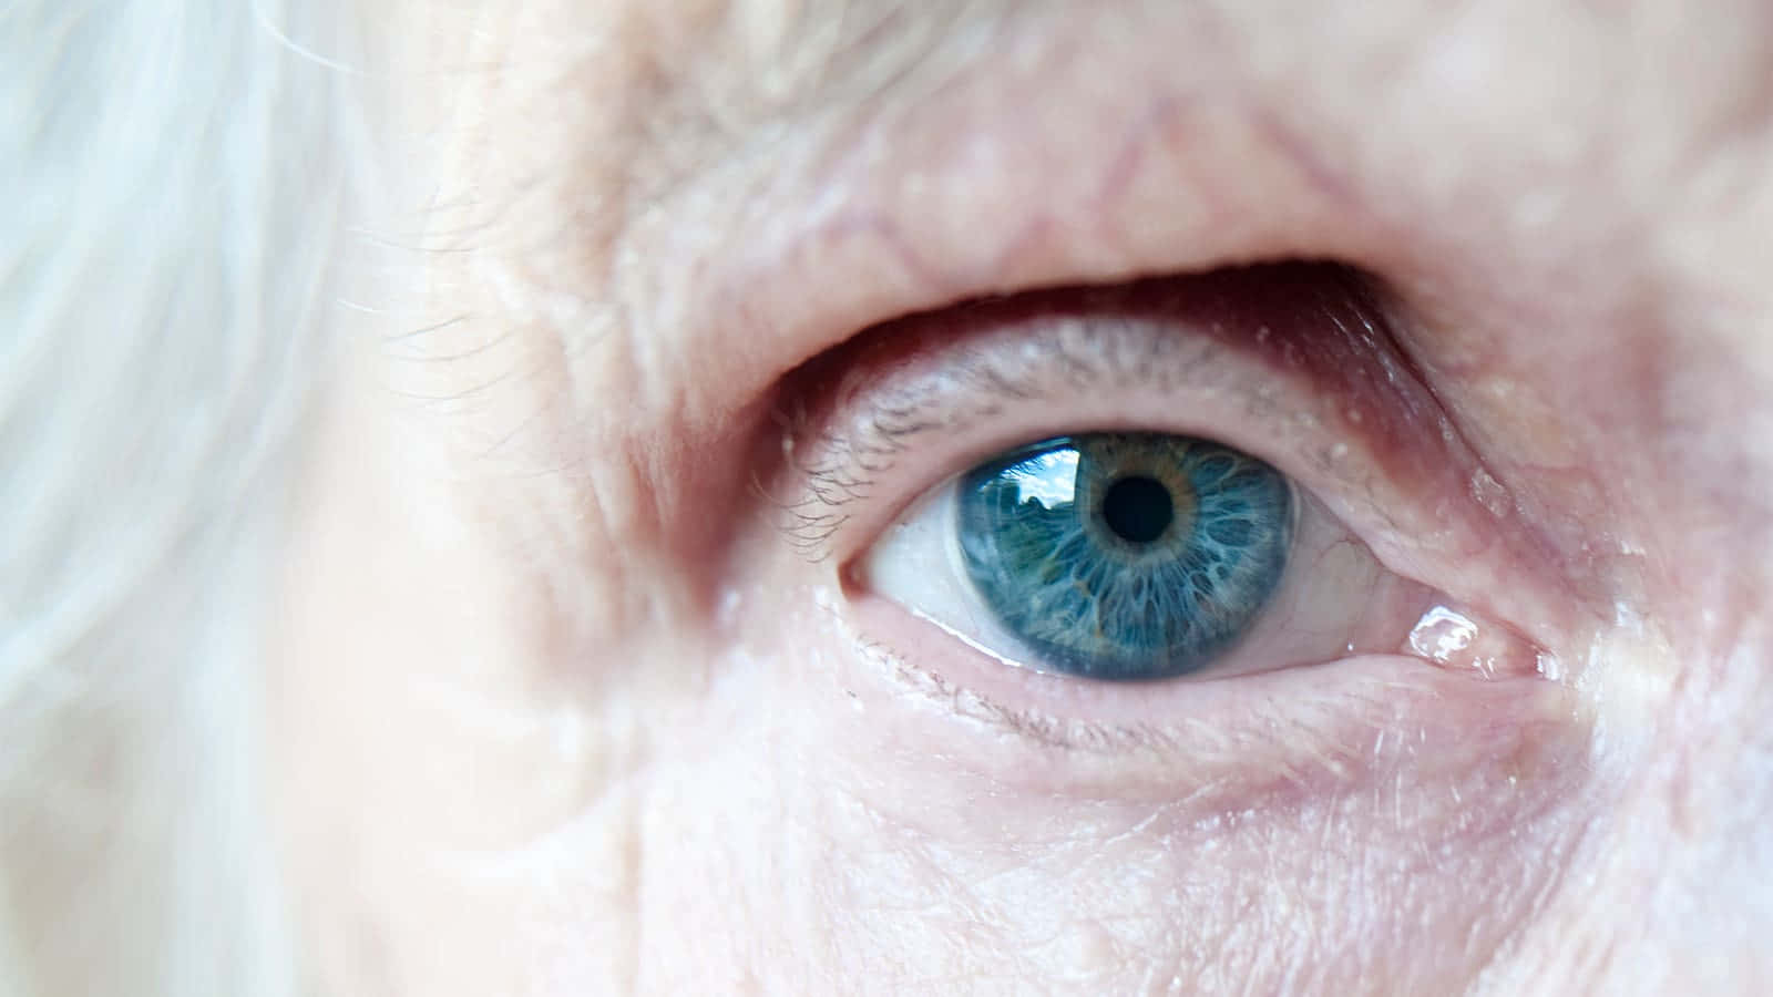
[[[911,506],[863,555],[860,582],[975,651],[1007,665],[1035,667],[966,575],[954,527],[957,498],[956,481]]]

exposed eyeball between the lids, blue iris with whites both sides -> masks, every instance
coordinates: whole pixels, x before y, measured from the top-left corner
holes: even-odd
[[[1294,491],[1266,461],[1197,436],[1050,438],[915,502],[858,582],[1053,674],[1165,679],[1234,671],[1234,658],[1333,656],[1371,642],[1372,601],[1395,596],[1371,553]],[[1301,569],[1312,577],[1289,580]]]

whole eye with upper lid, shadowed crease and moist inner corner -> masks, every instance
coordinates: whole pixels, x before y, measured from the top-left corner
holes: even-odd
[[[871,646],[1043,708],[1356,660],[1541,683],[1530,543],[1372,309],[1277,266],[894,323],[824,381],[798,527]]]

